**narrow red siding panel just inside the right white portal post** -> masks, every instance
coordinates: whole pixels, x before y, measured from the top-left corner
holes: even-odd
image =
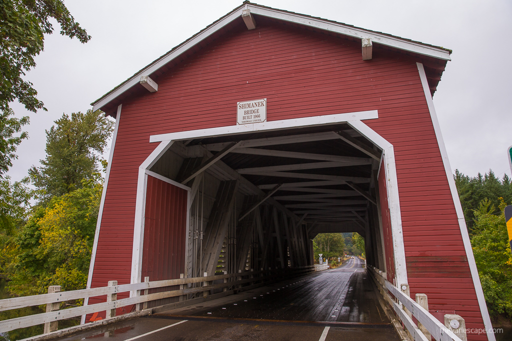
[[[395,257],[393,249],[393,232],[391,231],[391,216],[389,212],[388,201],[388,188],[386,182],[386,169],[384,167],[384,160],[380,164],[380,172],[378,176],[379,198],[380,198],[380,212],[382,215],[382,238],[384,240],[384,250],[386,252],[386,274],[388,280],[394,283],[395,279]],[[384,270],[384,269],[381,269]]]

